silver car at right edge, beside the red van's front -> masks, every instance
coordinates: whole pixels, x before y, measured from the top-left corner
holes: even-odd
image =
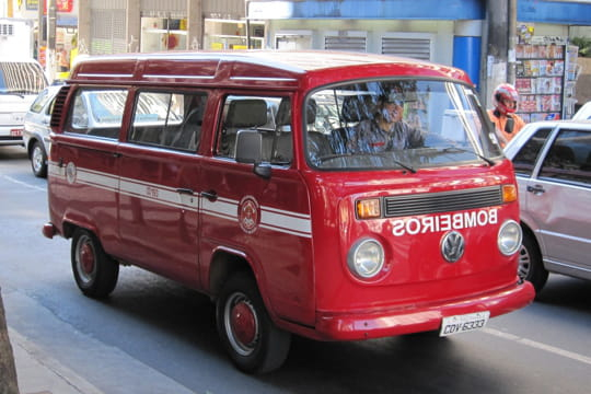
[[[541,291],[548,273],[591,279],[591,123],[537,121],[506,147],[519,185],[519,275]]]

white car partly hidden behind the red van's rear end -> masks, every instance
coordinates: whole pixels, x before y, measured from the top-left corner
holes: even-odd
[[[47,175],[47,152],[49,152],[49,120],[59,85],[44,89],[28,108],[24,118],[23,142],[28,152],[31,169],[38,177]]]

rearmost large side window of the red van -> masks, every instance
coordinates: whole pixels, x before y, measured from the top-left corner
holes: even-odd
[[[127,90],[79,89],[67,131],[118,139],[126,100]]]

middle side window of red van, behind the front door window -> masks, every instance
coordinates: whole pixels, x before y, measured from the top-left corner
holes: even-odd
[[[204,92],[139,92],[129,141],[195,152],[206,102]]]

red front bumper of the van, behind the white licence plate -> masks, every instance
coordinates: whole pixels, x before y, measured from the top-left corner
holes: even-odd
[[[484,311],[490,312],[490,317],[498,316],[526,306],[534,297],[533,286],[525,281],[442,304],[355,314],[318,312],[315,336],[323,340],[359,340],[438,331],[443,317]]]

